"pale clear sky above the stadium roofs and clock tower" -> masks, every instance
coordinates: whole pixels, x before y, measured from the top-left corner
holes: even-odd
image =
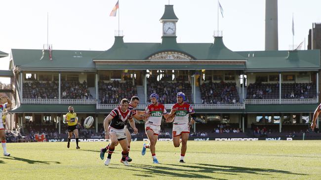
[[[4,0],[0,9],[0,51],[42,49],[107,50],[118,29],[109,14],[117,0]],[[265,0],[220,0],[224,18],[219,25],[225,45],[233,51],[264,50]],[[168,0],[120,0],[120,29],[125,42],[161,42],[160,18]],[[217,0],[170,0],[179,18],[178,42],[213,42],[217,30]],[[279,50],[306,38],[312,23],[321,22],[321,0],[279,0]],[[318,13],[319,12],[319,13]],[[0,69],[8,69],[1,58]]]

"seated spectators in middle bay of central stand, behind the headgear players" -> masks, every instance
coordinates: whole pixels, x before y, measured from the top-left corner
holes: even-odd
[[[147,91],[148,94],[157,93],[160,98],[159,102],[162,104],[175,104],[177,92],[184,92],[186,95],[186,102],[192,103],[192,86],[188,82],[184,81],[167,81],[168,77],[164,76],[160,81],[157,81],[156,76],[148,78]],[[147,103],[150,103],[150,98],[147,99]]]

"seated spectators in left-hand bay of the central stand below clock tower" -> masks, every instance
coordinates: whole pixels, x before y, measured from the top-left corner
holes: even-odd
[[[110,83],[99,81],[98,87],[101,104],[119,104],[122,98],[130,99],[137,95],[136,86],[133,86],[132,81]]]

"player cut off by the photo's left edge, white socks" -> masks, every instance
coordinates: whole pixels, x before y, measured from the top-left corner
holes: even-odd
[[[0,93],[0,98],[2,102],[2,98],[5,98],[7,103],[5,104],[0,104],[0,138],[1,138],[1,146],[3,149],[3,155],[4,156],[10,156],[10,154],[7,152],[7,147],[5,144],[5,132],[4,132],[4,126],[3,126],[3,122],[2,122],[2,112],[4,111],[5,108],[8,108],[12,105],[11,100],[9,99],[9,97],[5,94],[5,93]]]

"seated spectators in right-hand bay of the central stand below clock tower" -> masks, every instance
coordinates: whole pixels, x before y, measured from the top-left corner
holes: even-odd
[[[240,102],[235,83],[206,82],[200,86],[202,104],[235,104]]]

